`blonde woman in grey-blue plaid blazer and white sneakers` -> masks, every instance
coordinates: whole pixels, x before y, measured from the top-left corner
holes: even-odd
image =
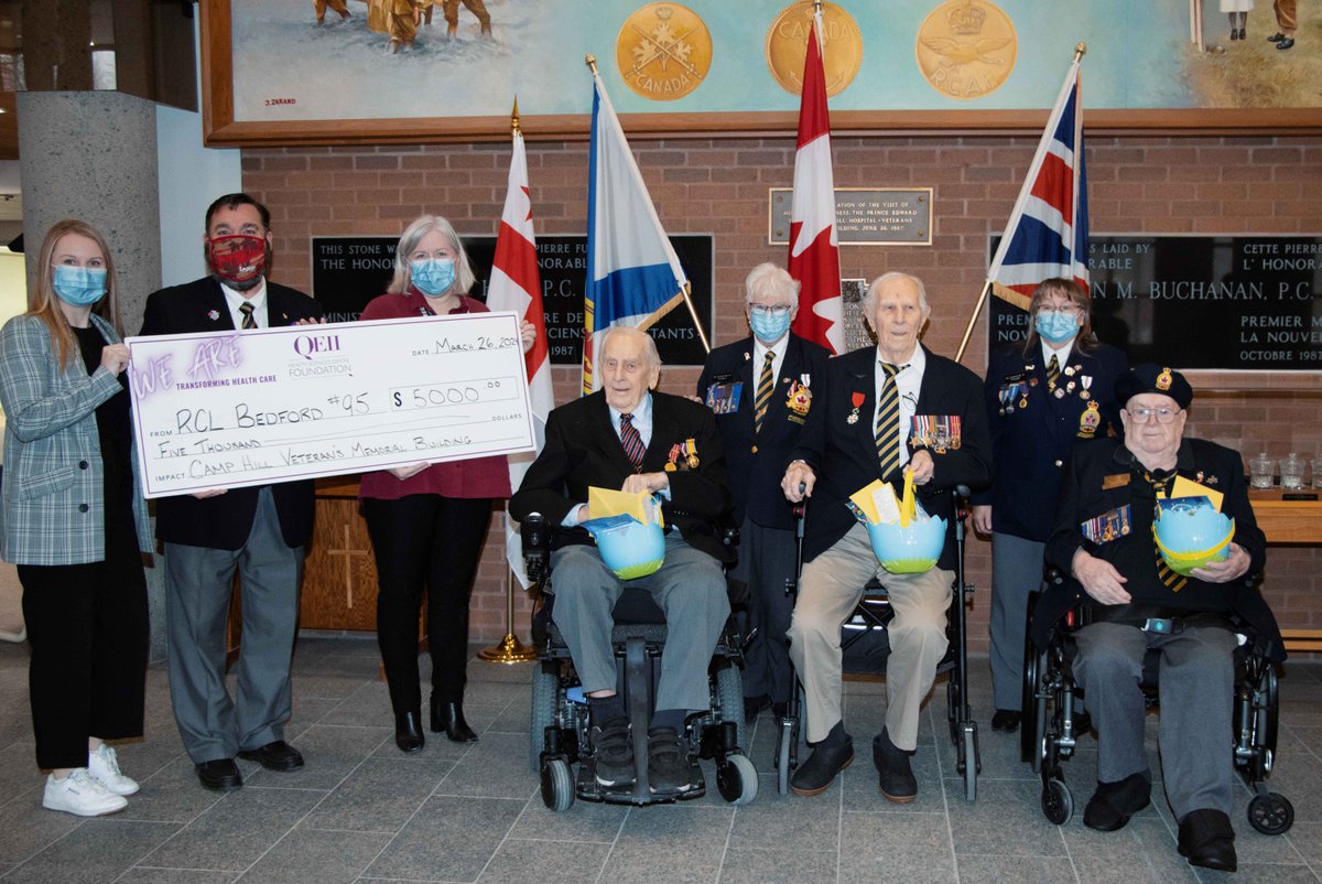
[[[32,644],[42,805],[122,810],[137,783],[103,740],[143,734],[151,552],[106,241],[61,221],[41,246],[28,312],[0,330],[7,418],[0,554],[19,566]]]

